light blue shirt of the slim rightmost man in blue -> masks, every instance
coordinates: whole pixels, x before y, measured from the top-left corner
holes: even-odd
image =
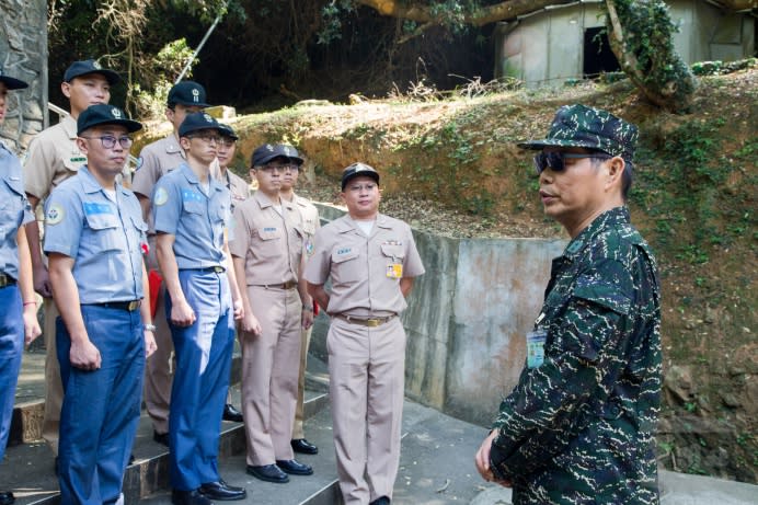
[[[229,190],[208,177],[208,194],[186,164],[163,175],[152,194],[156,231],[174,239],[180,269],[226,266],[223,233],[229,223]]]

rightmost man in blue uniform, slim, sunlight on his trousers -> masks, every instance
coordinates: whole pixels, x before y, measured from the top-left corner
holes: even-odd
[[[207,505],[210,500],[246,495],[218,473],[233,317],[242,317],[242,303],[226,240],[231,198],[210,176],[220,127],[198,112],[182,122],[179,137],[186,161],[158,181],[152,196],[158,264],[176,353],[169,414],[170,479],[175,505]]]

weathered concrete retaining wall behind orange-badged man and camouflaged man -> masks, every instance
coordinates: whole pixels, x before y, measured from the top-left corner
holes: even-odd
[[[343,214],[326,206],[319,211],[323,222]],[[403,314],[405,393],[489,425],[518,380],[551,260],[566,242],[413,234],[426,274],[416,279]],[[311,341],[311,353],[324,360],[328,324],[320,315]]]

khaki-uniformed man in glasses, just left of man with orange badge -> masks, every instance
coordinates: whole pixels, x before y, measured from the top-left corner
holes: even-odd
[[[305,232],[296,204],[279,197],[282,174],[302,160],[295,148],[255,149],[251,175],[257,192],[234,210],[229,251],[242,291],[242,411],[248,473],[275,483],[287,473],[310,475],[290,446],[297,400],[300,331],[313,322],[306,292]]]

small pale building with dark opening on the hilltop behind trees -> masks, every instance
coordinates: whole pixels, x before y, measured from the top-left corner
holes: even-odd
[[[495,31],[495,77],[527,87],[561,85],[620,70],[606,35],[602,0],[551,5],[502,22]],[[758,2],[669,0],[679,26],[674,45],[688,65],[754,56]]]

